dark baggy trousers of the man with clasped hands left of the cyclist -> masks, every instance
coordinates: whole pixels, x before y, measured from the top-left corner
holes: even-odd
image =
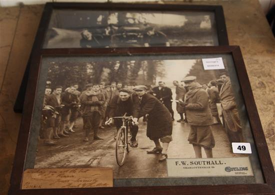
[[[93,129],[93,137],[97,136],[98,132],[98,127],[100,123],[101,115],[99,112],[90,112],[88,115],[83,116],[83,121],[85,124],[84,129],[85,129],[85,136],[88,137],[91,129]]]

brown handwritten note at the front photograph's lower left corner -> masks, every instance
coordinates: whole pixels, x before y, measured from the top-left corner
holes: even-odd
[[[111,168],[34,168],[23,173],[22,189],[112,187]]]

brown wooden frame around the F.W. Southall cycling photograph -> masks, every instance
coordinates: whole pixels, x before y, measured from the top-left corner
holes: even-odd
[[[250,122],[254,143],[261,165],[264,183],[262,184],[222,184],[191,186],[144,186],[144,187],[111,187],[111,188],[62,188],[62,189],[20,189],[24,160],[27,151],[31,117],[38,82],[39,67],[43,56],[104,56],[142,54],[231,54],[239,80],[243,101]],[[161,48],[117,48],[107,49],[47,49],[36,52],[30,65],[22,121],[10,179],[9,194],[275,194],[275,173],[262,131],[256,105],[253,99],[245,65],[238,46],[218,47],[161,47]]]

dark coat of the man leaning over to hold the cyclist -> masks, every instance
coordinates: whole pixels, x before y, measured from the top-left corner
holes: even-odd
[[[139,102],[138,96],[133,95],[133,117],[147,117],[146,135],[150,139],[161,138],[172,134],[172,118],[169,110],[154,96],[144,94]]]

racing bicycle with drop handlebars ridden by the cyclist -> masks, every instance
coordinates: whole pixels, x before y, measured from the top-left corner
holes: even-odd
[[[115,158],[119,166],[125,162],[126,154],[129,152],[131,134],[129,131],[129,123],[132,121],[132,116],[120,116],[109,118],[105,124],[110,124],[113,119],[122,119],[122,125],[116,133],[115,140]]]

